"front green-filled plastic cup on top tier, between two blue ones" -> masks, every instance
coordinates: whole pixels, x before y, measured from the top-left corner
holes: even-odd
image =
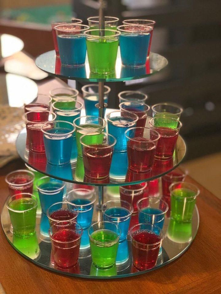
[[[96,29],[88,30],[84,35],[87,38],[87,56],[91,73],[114,73],[120,32]]]

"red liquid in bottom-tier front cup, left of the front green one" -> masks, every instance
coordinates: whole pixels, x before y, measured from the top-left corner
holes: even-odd
[[[76,265],[80,250],[80,239],[76,240],[77,238],[79,238],[79,234],[70,229],[59,230],[52,235],[52,251],[56,266],[69,268]],[[54,240],[60,241],[60,243]]]

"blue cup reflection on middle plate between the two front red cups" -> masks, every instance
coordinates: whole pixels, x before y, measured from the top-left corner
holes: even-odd
[[[126,177],[128,159],[126,151],[114,151],[111,161],[110,177],[112,179],[123,179]]]

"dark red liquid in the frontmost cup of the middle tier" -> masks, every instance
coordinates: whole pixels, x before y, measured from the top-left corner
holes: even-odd
[[[93,145],[91,145],[93,146]],[[87,179],[102,180],[109,177],[113,148],[101,148],[106,145],[94,145],[97,148],[83,148],[84,174]]]

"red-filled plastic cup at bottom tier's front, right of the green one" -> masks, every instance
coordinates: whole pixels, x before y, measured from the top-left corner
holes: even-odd
[[[164,238],[162,230],[153,224],[136,224],[130,229],[133,264],[138,270],[156,266]]]

